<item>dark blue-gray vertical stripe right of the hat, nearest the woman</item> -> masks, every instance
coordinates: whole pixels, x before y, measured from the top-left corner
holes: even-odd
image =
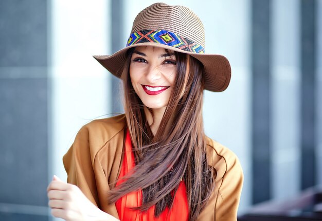
[[[253,204],[271,197],[270,0],[252,1]]]

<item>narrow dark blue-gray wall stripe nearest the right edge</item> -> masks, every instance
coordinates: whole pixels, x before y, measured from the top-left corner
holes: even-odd
[[[316,184],[315,6],[315,0],[301,1],[301,189],[306,189]]]

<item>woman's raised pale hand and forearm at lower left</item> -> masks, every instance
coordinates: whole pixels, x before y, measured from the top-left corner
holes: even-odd
[[[114,221],[114,216],[98,209],[75,185],[53,176],[47,188],[51,214],[66,221]]]

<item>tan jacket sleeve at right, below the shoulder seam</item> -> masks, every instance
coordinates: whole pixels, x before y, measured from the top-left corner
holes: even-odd
[[[235,156],[235,155],[234,155]],[[215,206],[216,221],[237,220],[237,210],[243,186],[243,171],[238,158],[226,160],[226,172],[217,186],[218,194]]]

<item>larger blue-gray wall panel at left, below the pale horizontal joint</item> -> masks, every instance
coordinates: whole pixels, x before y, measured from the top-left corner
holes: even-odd
[[[0,78],[0,202],[47,206],[47,79]]]

